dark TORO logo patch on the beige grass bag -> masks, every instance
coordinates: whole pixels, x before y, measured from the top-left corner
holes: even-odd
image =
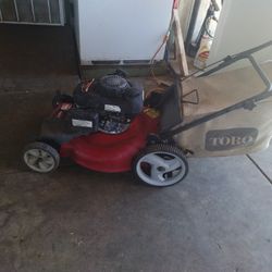
[[[206,134],[206,149],[222,151],[252,146],[257,136],[258,131],[252,127],[210,131]]]

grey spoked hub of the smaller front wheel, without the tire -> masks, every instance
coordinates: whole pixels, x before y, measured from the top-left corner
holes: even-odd
[[[53,169],[53,157],[41,149],[30,149],[24,154],[25,163],[34,171],[46,173]]]

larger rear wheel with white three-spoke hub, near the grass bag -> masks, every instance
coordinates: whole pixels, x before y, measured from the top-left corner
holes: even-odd
[[[188,162],[183,151],[175,146],[152,145],[135,158],[133,172],[148,185],[166,187],[186,177]]]

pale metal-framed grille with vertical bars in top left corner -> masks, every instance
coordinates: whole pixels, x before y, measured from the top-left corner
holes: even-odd
[[[63,25],[63,0],[0,0],[0,23]]]

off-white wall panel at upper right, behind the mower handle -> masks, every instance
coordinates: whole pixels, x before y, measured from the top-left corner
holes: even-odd
[[[208,64],[271,39],[271,0],[224,0]],[[256,57],[272,59],[272,47]]]

